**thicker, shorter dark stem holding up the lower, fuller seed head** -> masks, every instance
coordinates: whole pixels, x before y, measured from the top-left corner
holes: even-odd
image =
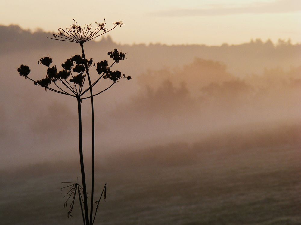
[[[81,109],[81,99],[80,99],[80,97],[77,97],[77,106],[78,106],[79,160],[80,160],[80,170],[82,172],[82,188],[83,188],[83,194],[84,194],[85,220],[86,220],[86,224],[89,224],[87,188],[86,188],[85,168],[84,168],[84,157],[83,157],[83,154],[82,154],[82,109]]]

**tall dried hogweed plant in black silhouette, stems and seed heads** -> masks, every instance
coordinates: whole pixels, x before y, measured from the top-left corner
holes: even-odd
[[[25,78],[31,80],[34,85],[45,88],[45,90],[54,91],[59,94],[69,95],[77,100],[78,106],[78,123],[79,123],[79,159],[80,159],[80,169],[81,169],[81,177],[82,177],[82,186],[76,183],[68,183],[64,188],[69,187],[69,190],[65,197],[67,197],[67,201],[65,202],[65,206],[67,206],[67,202],[71,199],[70,211],[68,212],[68,217],[72,217],[71,212],[73,209],[76,193],[79,196],[79,203],[82,211],[82,219],[84,225],[92,225],[95,220],[95,216],[97,213],[97,209],[99,206],[99,202],[101,200],[102,195],[104,194],[104,199],[106,198],[107,193],[107,184],[104,185],[104,189],[102,190],[101,196],[98,201],[95,202],[96,209],[93,211],[94,205],[94,153],[95,153],[95,132],[94,132],[94,103],[93,97],[101,94],[106,91],[110,87],[112,87],[119,79],[126,78],[127,80],[131,79],[130,76],[122,75],[118,70],[111,70],[112,66],[115,63],[119,63],[121,60],[125,59],[125,53],[119,52],[119,50],[114,49],[111,52],[108,52],[108,56],[113,60],[111,64],[108,63],[107,60],[98,62],[96,65],[93,64],[92,58],[89,60],[85,56],[84,52],[84,43],[90,41],[94,38],[103,35],[117,26],[122,26],[123,23],[121,21],[117,21],[113,23],[113,28],[108,30],[106,28],[105,22],[97,23],[97,27],[92,29],[91,24],[85,25],[83,28],[75,22],[70,25],[70,28],[66,29],[58,29],[58,33],[54,34],[54,40],[58,41],[68,41],[78,43],[81,46],[82,55],[74,55],[71,58],[68,58],[64,63],[61,64],[62,70],[58,71],[56,65],[50,66],[52,63],[52,58],[46,56],[41,58],[38,61],[38,64],[42,64],[47,67],[46,76],[41,80],[33,80],[28,77],[30,73],[30,68],[26,65],[21,65],[17,70],[20,76],[24,76]],[[95,81],[92,82],[90,77],[90,68],[96,67],[96,71],[98,73],[98,77]],[[86,78],[88,79],[88,84],[86,84]],[[110,79],[111,82],[104,90],[94,94],[92,89],[93,87],[100,81],[100,79]],[[87,188],[86,188],[86,179],[85,179],[85,168],[83,161],[83,147],[82,147],[82,110],[81,103],[82,100],[90,98],[91,100],[91,118],[92,118],[92,171],[91,171],[91,202],[90,202],[90,211],[88,211],[88,199],[87,199]],[[66,183],[66,182],[64,182]],[[61,190],[62,190],[61,189]],[[94,213],[94,216],[93,216]],[[92,220],[93,218],[93,220]]]

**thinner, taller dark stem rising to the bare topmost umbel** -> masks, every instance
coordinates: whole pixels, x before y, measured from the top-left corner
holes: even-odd
[[[90,223],[92,224],[92,215],[93,215],[93,197],[94,197],[94,149],[95,149],[95,140],[94,140],[94,104],[93,104],[93,92],[92,92],[92,84],[91,84],[91,79],[89,75],[89,68],[86,62],[86,57],[85,57],[85,52],[84,52],[84,45],[83,43],[80,44],[82,47],[82,56],[85,61],[85,67],[86,67],[86,72],[88,76],[88,81],[89,81],[89,87],[90,87],[90,95],[91,95],[91,118],[92,118],[92,173],[91,173],[91,206],[90,206]]]

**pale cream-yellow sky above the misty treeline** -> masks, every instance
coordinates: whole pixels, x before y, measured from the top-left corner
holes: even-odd
[[[110,35],[121,44],[241,44],[279,38],[301,42],[299,0],[0,1],[2,25],[56,32],[79,25],[121,20]]]

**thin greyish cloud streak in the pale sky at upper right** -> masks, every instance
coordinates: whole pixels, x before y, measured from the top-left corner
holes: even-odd
[[[300,0],[276,0],[268,3],[253,3],[245,6],[215,5],[207,9],[176,9],[151,13],[154,16],[223,16],[235,14],[288,13],[301,11]]]

